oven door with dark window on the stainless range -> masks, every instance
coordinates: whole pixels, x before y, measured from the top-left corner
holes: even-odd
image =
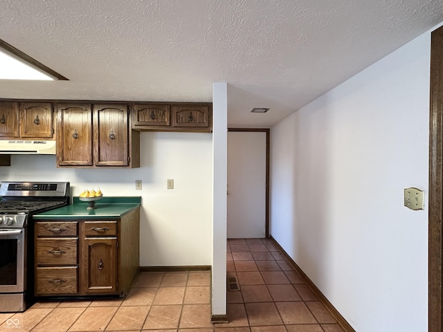
[[[26,290],[26,228],[0,228],[0,293]]]

